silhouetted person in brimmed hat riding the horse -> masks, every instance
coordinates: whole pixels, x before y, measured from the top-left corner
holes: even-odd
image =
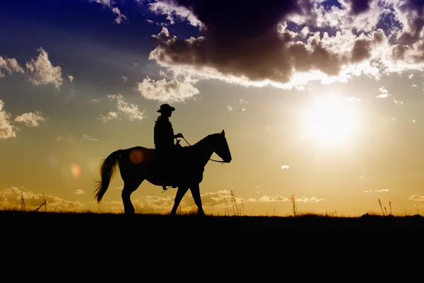
[[[170,169],[170,166],[167,166],[167,162],[172,161],[175,156],[175,149],[177,149],[174,139],[178,137],[184,138],[181,133],[174,134],[174,129],[169,120],[174,110],[175,108],[169,104],[160,105],[160,109],[157,111],[160,112],[160,116],[156,119],[154,128],[155,149],[158,153],[158,160],[161,163],[161,168],[164,168],[165,174]],[[162,187],[163,190],[166,190],[166,185]],[[172,185],[172,187],[177,186]]]

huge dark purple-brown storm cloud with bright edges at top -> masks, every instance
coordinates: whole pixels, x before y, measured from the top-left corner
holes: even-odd
[[[159,63],[212,67],[225,75],[247,77],[250,81],[290,81],[295,71],[320,70],[336,76],[341,65],[359,62],[370,52],[370,42],[358,42],[353,54],[341,56],[313,39],[309,46],[296,42],[295,33],[284,30],[283,21],[294,14],[311,13],[310,1],[178,0],[204,24],[202,37],[161,42],[152,52]],[[355,4],[357,5],[357,4]],[[355,6],[354,5],[354,6]],[[357,7],[363,11],[366,6]],[[362,9],[362,10],[361,10]],[[352,58],[348,58],[352,56]]]

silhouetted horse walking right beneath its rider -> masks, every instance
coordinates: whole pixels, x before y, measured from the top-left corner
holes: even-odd
[[[209,160],[216,161],[211,159],[213,153],[223,159],[216,162],[230,163],[232,159],[225,132],[222,130],[220,133],[209,134],[196,144],[180,146],[176,152],[174,161],[172,161],[175,168],[172,171],[164,170],[163,164],[158,163],[155,149],[134,146],[112,152],[100,163],[100,179],[97,180],[98,185],[95,188],[95,199],[98,204],[105,195],[116,169],[119,168],[124,181],[122,202],[125,214],[134,214],[131,193],[137,190],[143,180],[147,180],[153,185],[177,187],[171,215],[177,213],[179,203],[189,189],[197,206],[197,213],[205,215],[199,188],[199,184],[203,180],[204,167]]]

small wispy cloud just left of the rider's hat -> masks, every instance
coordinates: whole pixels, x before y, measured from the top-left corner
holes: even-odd
[[[138,105],[126,102],[122,95],[112,94],[107,96],[107,98],[110,100],[116,100],[117,111],[110,111],[107,115],[100,115],[99,119],[103,122],[117,120],[121,116],[128,118],[130,121],[143,120],[144,111],[140,111]]]

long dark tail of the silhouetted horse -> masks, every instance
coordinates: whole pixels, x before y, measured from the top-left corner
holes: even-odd
[[[97,180],[98,183],[95,189],[95,199],[100,203],[103,195],[109,187],[110,181],[112,180],[114,174],[116,173],[116,169],[119,163],[119,157],[121,156],[121,149],[112,152],[105,160],[100,164],[100,180]]]

